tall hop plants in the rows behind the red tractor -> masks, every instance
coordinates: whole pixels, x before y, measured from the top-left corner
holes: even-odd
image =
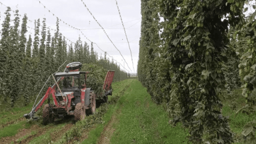
[[[27,15],[23,16],[20,23],[19,10],[16,10],[12,20],[14,25],[11,26],[10,11],[8,7],[4,13],[0,32],[0,102],[10,103],[13,107],[22,98],[23,104],[27,105],[39,93],[49,75],[56,72],[65,61],[66,64],[94,63],[107,70],[115,70],[114,81],[127,78],[127,73],[121,71],[116,63],[106,59],[98,60],[93,43],[90,50],[86,42],[83,45],[79,36],[74,47],[72,43],[67,45],[65,37],[59,32],[58,19],[53,36],[47,30],[46,19],[43,18],[42,22],[37,20],[34,38],[29,35],[27,40]]]

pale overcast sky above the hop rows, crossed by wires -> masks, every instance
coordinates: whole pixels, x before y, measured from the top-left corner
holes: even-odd
[[[139,37],[140,37],[140,25],[141,25],[141,14],[140,14],[140,0],[117,0],[118,7],[121,13],[124,26],[126,28],[126,33],[128,41],[130,44],[130,49],[132,51],[132,58],[134,63],[134,69],[131,61],[131,54],[128,47],[128,42],[121,24],[119,13],[117,10],[117,5],[115,0],[83,0],[94,15],[96,20],[105,29],[107,35],[116,45],[109,41],[104,31],[93,19],[91,14],[85,8],[81,0],[1,0],[0,2],[6,6],[11,7],[11,10],[19,10],[21,14],[21,19],[24,13],[27,14],[28,26],[34,28],[34,20],[46,18],[47,27],[51,29],[56,29],[56,16],[60,21],[60,32],[68,38],[70,41],[75,42],[78,40],[79,34],[82,41],[86,41],[89,45],[90,42],[86,40],[85,36],[95,43],[103,50],[107,51],[110,56],[113,56],[117,62],[124,65],[124,60],[120,53],[124,56],[126,62],[125,68],[128,67],[130,73],[137,73],[137,64],[139,58]],[[44,6],[45,8],[44,8]],[[4,12],[7,8],[0,4],[0,24],[4,21]],[[47,10],[48,9],[48,10]],[[49,12],[50,10],[50,12]],[[54,16],[53,16],[53,14]],[[13,12],[11,11],[12,19]],[[64,23],[63,23],[64,21]],[[67,23],[67,24],[65,24]],[[70,25],[70,26],[69,26]],[[84,35],[79,30],[71,28],[71,26],[81,29]],[[0,26],[1,28],[1,26]],[[82,30],[85,29],[85,30]],[[34,35],[33,29],[28,29],[29,32]],[[41,28],[40,28],[41,31]],[[54,31],[51,30],[53,35]],[[27,33],[29,35],[30,33]],[[33,38],[33,36],[32,36]],[[68,44],[70,42],[68,41]],[[74,45],[73,45],[74,46]],[[94,45],[94,50],[97,51],[98,55],[102,52],[96,45]],[[110,58],[111,60],[111,58]],[[122,66],[120,66],[122,68]],[[135,71],[134,71],[135,70]]]

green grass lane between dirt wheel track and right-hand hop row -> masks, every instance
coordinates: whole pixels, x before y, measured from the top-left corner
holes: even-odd
[[[181,125],[172,127],[170,118],[161,105],[152,102],[147,89],[138,80],[130,86],[130,92],[117,102],[122,107],[119,122],[111,144],[181,144],[187,142],[188,133]]]

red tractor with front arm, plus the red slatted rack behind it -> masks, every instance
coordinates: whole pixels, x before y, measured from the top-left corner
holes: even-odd
[[[72,62],[66,66],[65,72],[57,72],[52,75],[54,84],[49,87],[43,98],[28,114],[23,116],[27,119],[33,118],[34,113],[48,99],[48,104],[43,106],[43,123],[52,123],[55,118],[63,118],[67,115],[74,115],[75,121],[85,118],[85,112],[94,114],[96,110],[96,99],[107,102],[108,95],[112,95],[110,89],[115,71],[108,71],[103,89],[104,93],[96,95],[91,88],[86,87],[86,78],[89,72],[81,72],[80,62]],[[57,81],[56,81],[57,80]],[[50,104],[50,95],[52,94],[53,103]]]

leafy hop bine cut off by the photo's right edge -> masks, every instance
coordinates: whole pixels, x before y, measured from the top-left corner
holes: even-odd
[[[253,8],[256,5],[252,5]],[[239,75],[241,76],[243,92],[242,95],[245,97],[246,105],[243,109],[246,113],[255,114],[255,103],[256,103],[256,20],[255,20],[256,12],[252,13],[246,21],[244,27],[237,31],[240,37],[245,37],[247,42],[247,49],[244,54],[240,58],[239,67]],[[239,112],[239,111],[238,111]],[[237,113],[238,113],[237,112]],[[250,122],[244,125],[244,131],[242,134],[245,137],[245,142],[253,144],[256,142],[256,122],[255,120],[251,120]]]

